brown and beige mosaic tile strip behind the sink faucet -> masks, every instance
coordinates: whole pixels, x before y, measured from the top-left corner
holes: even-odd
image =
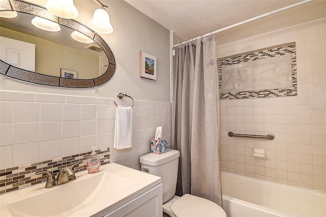
[[[87,158],[91,156],[91,152],[2,169],[0,170],[0,195],[45,182],[47,175],[35,175],[38,171],[47,170],[57,176],[59,169],[70,167],[78,161],[83,163],[74,168],[75,172],[84,171],[87,169]],[[101,159],[101,165],[110,163],[110,148],[102,148],[96,152]]]

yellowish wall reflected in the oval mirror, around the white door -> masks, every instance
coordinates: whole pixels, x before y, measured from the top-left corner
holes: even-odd
[[[89,49],[79,50],[11,29],[3,27],[0,27],[0,29],[1,36],[35,44],[35,61],[33,61],[35,63],[35,71],[30,71],[41,74],[45,74],[44,72],[46,72],[46,75],[60,77],[60,69],[64,68],[78,72],[78,78],[80,79],[96,78],[99,76],[99,54],[103,52],[88,51]],[[6,63],[8,62],[6,61]]]

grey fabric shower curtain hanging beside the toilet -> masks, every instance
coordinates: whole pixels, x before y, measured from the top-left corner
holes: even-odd
[[[180,151],[176,194],[222,206],[219,160],[218,78],[215,37],[175,49],[173,148]]]

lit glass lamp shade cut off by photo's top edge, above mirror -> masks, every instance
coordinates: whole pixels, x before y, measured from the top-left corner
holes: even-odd
[[[73,0],[48,0],[45,8],[58,17],[73,19],[78,16],[78,10]]]

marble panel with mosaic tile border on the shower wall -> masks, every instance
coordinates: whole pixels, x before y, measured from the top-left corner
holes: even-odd
[[[296,96],[295,43],[219,59],[220,99]]]

